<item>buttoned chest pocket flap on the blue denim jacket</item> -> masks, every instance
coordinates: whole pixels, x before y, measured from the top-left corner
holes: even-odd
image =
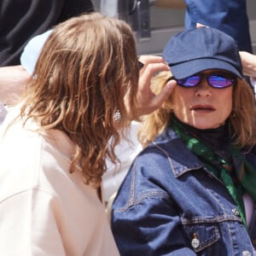
[[[190,247],[197,252],[201,252],[207,247],[212,247],[212,244],[220,239],[218,231],[218,224],[212,223],[195,223],[194,221],[189,224],[188,219],[183,219],[183,230],[190,241]]]

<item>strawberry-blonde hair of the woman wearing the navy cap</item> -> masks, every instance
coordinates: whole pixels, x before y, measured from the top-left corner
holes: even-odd
[[[170,72],[162,72],[154,77],[151,84],[154,93],[159,93],[171,77]],[[160,134],[170,121],[173,109],[172,95],[161,108],[144,117],[143,125],[138,133],[139,141],[144,147]],[[253,90],[246,80],[237,79],[232,102],[233,109],[230,113],[229,124],[234,143],[240,148],[251,148],[256,143],[256,108]]]

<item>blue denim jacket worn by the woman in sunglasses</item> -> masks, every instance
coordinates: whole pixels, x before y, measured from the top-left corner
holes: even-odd
[[[121,255],[249,256],[256,246],[255,203],[247,229],[224,183],[169,128],[134,160],[111,225]]]

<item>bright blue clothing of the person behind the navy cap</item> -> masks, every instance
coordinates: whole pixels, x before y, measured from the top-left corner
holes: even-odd
[[[185,27],[196,22],[212,26],[234,38],[240,50],[252,52],[245,0],[185,0],[187,12]]]

